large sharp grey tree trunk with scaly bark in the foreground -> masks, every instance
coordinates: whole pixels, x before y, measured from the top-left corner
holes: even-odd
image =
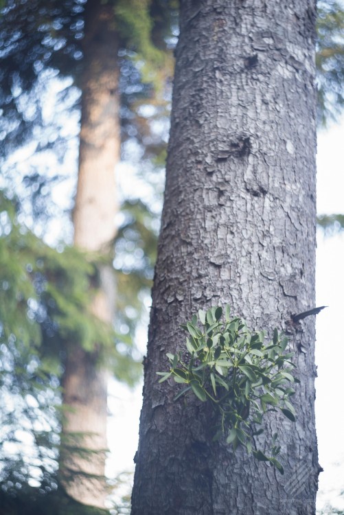
[[[165,203],[145,366],[132,515],[311,515],[314,426],[314,0],[181,1]],[[212,442],[206,403],[158,383],[198,308],[233,306],[284,328],[297,422],[271,414],[282,477]]]

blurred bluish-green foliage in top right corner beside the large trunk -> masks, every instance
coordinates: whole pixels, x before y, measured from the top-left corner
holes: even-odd
[[[317,10],[318,123],[325,125],[344,106],[344,6],[319,0]]]

